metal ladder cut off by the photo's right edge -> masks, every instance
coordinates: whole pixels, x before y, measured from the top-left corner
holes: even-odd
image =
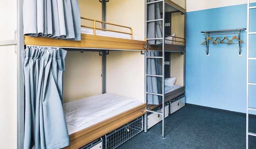
[[[250,7],[250,0],[247,0],[247,87],[246,87],[246,148],[248,149],[248,137],[249,135],[255,136],[256,137],[256,133],[253,132],[249,132],[249,110],[253,110],[256,111],[256,108],[250,108],[249,107],[249,85],[256,85],[256,83],[250,83],[249,82],[249,60],[256,60],[256,58],[252,58],[249,57],[249,35],[251,34],[256,34],[256,32],[250,32],[249,30],[249,14],[250,14],[250,9],[255,9],[256,6],[252,6]]]

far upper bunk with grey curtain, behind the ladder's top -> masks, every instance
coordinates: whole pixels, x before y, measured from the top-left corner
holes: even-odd
[[[154,2],[148,0],[147,2]],[[148,24],[147,38],[162,38],[162,19],[165,20],[165,51],[185,52],[185,1],[175,3],[171,0],[165,0],[165,18],[163,18],[163,2],[152,3],[148,5],[147,23],[155,22],[158,26],[155,29],[150,28]],[[152,6],[151,6],[152,5]],[[182,6],[184,5],[184,6]],[[152,8],[150,8],[152,7]],[[184,8],[183,8],[184,7]],[[154,10],[152,13],[152,10]],[[155,27],[155,26],[154,26]],[[159,28],[159,29],[157,29]],[[152,33],[151,33],[152,32]],[[154,35],[153,35],[154,34]],[[149,41],[149,49],[152,51],[162,51],[162,40]]]

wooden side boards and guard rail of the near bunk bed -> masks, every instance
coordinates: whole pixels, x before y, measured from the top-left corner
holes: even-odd
[[[35,45],[35,46],[51,46],[51,47],[61,47],[61,48],[77,48],[77,49],[95,49],[96,50],[138,50],[145,51],[146,41],[133,40],[132,28],[127,26],[116,25],[113,23],[107,23],[99,20],[93,20],[89,18],[81,17],[81,19],[93,21],[93,27],[84,26],[85,28],[92,28],[93,35],[90,34],[81,34],[81,41],[71,41],[71,40],[59,40],[52,38],[44,37],[29,37],[24,36],[24,45]],[[109,29],[96,28],[96,22],[105,23],[109,25],[119,26],[123,28],[129,28],[130,33],[113,31]],[[123,38],[114,38],[114,37],[105,37],[96,35],[96,29],[119,32],[123,34],[131,35],[131,39]],[[69,51],[77,51],[72,49]],[[81,131],[75,132],[69,135],[70,145],[64,147],[63,149],[78,149],[91,141],[96,140],[97,138],[102,137],[103,135],[111,132],[118,127],[123,126],[124,124],[144,115],[146,113],[146,103],[141,104],[135,108],[132,108],[128,111],[122,112],[116,116],[108,118],[100,123],[94,124],[93,126],[82,129]]]

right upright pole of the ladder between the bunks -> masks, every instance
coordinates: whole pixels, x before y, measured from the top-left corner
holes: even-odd
[[[162,77],[162,105],[163,105],[163,114],[162,114],[162,138],[165,138],[165,0],[163,0],[163,61],[162,61],[162,73],[163,73],[163,77]]]

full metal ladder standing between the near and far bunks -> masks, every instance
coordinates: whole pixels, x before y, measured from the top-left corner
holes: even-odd
[[[162,18],[160,19],[156,19],[156,20],[147,20],[147,16],[148,16],[148,10],[147,10],[147,6],[148,5],[151,5],[153,3],[159,3],[159,2],[162,2],[163,3],[163,16]],[[146,3],[146,37],[148,37],[148,31],[147,31],[147,28],[148,28],[148,23],[149,22],[157,22],[157,21],[162,21],[162,38],[147,38],[146,39],[146,43],[148,43],[149,40],[162,40],[162,52],[163,52],[163,55],[161,57],[148,57],[148,44],[146,44],[146,52],[145,52],[145,94],[144,94],[144,98],[145,98],[145,101],[146,101],[146,111],[147,112],[152,112],[152,113],[157,113],[157,114],[160,114],[162,115],[162,138],[165,138],[165,133],[164,133],[164,126],[165,126],[165,89],[164,89],[164,86],[165,86],[165,0],[156,0],[154,2],[147,2],[147,0],[145,0],[145,3]],[[151,75],[151,74],[147,74],[147,63],[148,63],[148,58],[162,58],[162,75]],[[151,77],[162,77],[162,94],[157,94],[157,93],[152,93],[152,92],[147,92],[147,86],[148,86],[148,81],[147,81],[147,77],[148,76],[151,76]],[[152,111],[150,109],[148,109],[148,99],[147,99],[147,95],[148,94],[151,94],[151,95],[159,95],[159,96],[162,96],[162,105],[163,105],[163,112],[157,112],[157,111]],[[148,132],[148,117],[147,117],[147,114],[145,114],[145,125],[144,125],[144,132]]]

